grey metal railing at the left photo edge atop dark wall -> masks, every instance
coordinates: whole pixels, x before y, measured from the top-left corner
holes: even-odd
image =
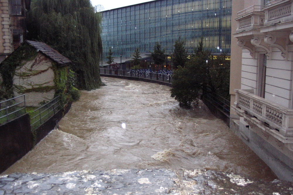
[[[0,124],[25,114],[25,95],[0,102]]]

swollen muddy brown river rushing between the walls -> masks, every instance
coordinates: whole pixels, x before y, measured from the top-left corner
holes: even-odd
[[[184,110],[170,87],[102,78],[32,151],[3,174],[180,168],[276,176],[207,107]]]

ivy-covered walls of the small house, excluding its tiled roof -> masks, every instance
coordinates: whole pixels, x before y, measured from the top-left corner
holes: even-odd
[[[26,106],[38,107],[57,95],[63,105],[79,99],[75,73],[26,43],[0,64],[0,73],[0,100],[25,94]]]

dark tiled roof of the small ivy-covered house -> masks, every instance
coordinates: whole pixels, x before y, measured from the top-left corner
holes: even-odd
[[[49,45],[42,43],[42,42],[37,42],[37,41],[29,41],[25,40],[28,44],[31,46],[35,47],[36,49],[39,49],[40,52],[45,54],[47,57],[51,58],[52,60],[56,61],[60,65],[65,65],[67,63],[71,63],[71,61],[57,52],[57,50],[52,49]]]

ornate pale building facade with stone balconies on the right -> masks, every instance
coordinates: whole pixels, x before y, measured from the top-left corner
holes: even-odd
[[[231,125],[293,181],[293,0],[232,0]],[[234,19],[235,18],[235,19]]]

